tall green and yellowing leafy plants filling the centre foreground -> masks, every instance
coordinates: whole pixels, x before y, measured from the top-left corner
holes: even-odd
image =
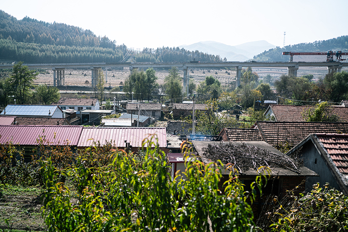
[[[192,161],[170,181],[165,154],[158,146],[145,151],[142,163],[134,154],[117,150],[106,152],[108,165],[86,166],[86,155],[63,169],[50,158],[44,161],[43,215],[48,230],[254,230],[253,212],[238,178],[231,176],[221,189],[218,165]],[[72,201],[71,187],[60,182],[61,175],[75,183],[77,202]]]

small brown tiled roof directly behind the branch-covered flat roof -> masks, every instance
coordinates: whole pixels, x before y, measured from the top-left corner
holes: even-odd
[[[224,128],[229,141],[262,141],[258,129],[252,128]]]

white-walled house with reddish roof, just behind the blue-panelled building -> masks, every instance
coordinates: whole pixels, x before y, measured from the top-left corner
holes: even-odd
[[[66,98],[61,97],[58,102],[52,105],[59,105],[62,110],[73,109],[77,114],[84,109],[99,110],[99,101],[96,98]]]

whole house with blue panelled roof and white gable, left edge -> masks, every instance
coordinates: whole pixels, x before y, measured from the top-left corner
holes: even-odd
[[[0,115],[65,119],[65,113],[58,105],[7,105]]]

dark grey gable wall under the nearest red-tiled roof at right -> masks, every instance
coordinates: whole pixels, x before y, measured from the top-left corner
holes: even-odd
[[[304,165],[319,174],[319,176],[308,177],[306,181],[306,191],[312,190],[313,184],[317,182],[320,183],[320,186],[328,182],[330,183],[330,187],[334,187],[341,191],[333,172],[311,140],[303,145],[301,154]]]

